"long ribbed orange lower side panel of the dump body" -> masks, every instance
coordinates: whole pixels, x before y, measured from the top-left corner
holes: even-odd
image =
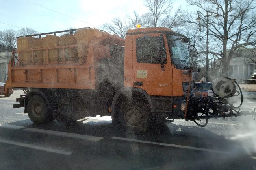
[[[86,65],[11,67],[12,87],[94,89],[94,68]]]

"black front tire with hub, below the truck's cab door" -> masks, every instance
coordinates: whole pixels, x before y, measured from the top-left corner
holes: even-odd
[[[150,108],[143,102],[123,102],[119,114],[120,125],[126,131],[143,133],[153,123]]]

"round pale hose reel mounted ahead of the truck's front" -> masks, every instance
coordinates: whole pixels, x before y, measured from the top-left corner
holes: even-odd
[[[232,97],[236,93],[235,80],[227,77],[219,77],[213,80],[212,91],[215,95],[224,98]]]

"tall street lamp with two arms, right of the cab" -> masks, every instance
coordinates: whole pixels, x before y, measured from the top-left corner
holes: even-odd
[[[219,8],[214,9],[214,11],[217,10],[216,15],[214,16],[214,18],[219,18],[220,15],[218,13]],[[201,14],[202,16],[206,17],[206,81],[209,82],[209,59],[208,59],[208,55],[209,55],[209,41],[208,41],[208,35],[209,35],[209,17],[213,14],[214,11],[206,11],[206,15],[203,15],[200,11],[197,11],[197,18],[196,20],[199,22],[199,26],[200,26],[200,31],[201,31],[201,23],[200,23],[200,16],[199,14]],[[210,13],[210,14],[209,14]]]

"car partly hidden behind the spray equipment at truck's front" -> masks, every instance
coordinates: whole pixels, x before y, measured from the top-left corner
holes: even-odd
[[[212,87],[212,82],[196,82],[194,94],[196,97],[214,96],[214,93],[211,87]]]

